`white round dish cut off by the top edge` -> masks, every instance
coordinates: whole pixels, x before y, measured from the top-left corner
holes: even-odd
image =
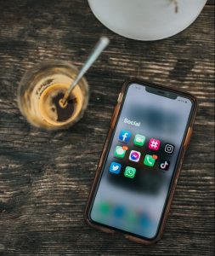
[[[97,19],[113,32],[150,41],[171,37],[190,26],[207,0],[88,0],[88,3]]]

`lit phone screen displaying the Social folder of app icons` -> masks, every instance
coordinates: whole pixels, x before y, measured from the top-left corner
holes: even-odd
[[[156,236],[191,107],[187,98],[129,86],[93,201],[93,221]]]

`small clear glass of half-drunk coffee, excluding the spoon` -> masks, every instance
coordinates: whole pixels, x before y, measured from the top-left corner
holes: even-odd
[[[82,118],[88,105],[88,82],[82,78],[65,105],[60,100],[78,73],[67,61],[45,61],[21,79],[18,105],[25,118],[48,130],[68,128]]]

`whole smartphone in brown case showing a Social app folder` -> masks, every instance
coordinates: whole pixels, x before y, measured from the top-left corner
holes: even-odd
[[[144,244],[161,238],[196,109],[188,93],[125,82],[88,198],[88,224]]]

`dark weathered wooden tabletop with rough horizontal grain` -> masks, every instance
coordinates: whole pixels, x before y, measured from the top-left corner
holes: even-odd
[[[213,255],[214,2],[173,38],[138,42],[102,26],[84,0],[0,0],[0,255]],[[46,59],[82,67],[100,35],[111,44],[89,70],[91,98],[68,131],[28,125],[16,90]],[[110,117],[128,76],[193,93],[199,111],[164,236],[144,247],[84,223]]]

